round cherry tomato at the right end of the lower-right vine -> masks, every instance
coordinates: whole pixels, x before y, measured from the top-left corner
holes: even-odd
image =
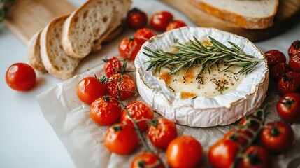
[[[290,125],[282,122],[272,122],[264,126],[260,134],[260,141],[266,149],[273,153],[287,151],[294,141],[294,132]]]

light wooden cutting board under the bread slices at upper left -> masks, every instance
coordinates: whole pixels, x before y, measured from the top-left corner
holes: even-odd
[[[8,18],[3,22],[27,45],[31,36],[48,22],[59,15],[72,13],[75,9],[76,6],[64,0],[15,0]]]

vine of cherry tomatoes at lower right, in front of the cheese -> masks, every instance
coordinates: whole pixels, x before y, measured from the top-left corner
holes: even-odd
[[[290,125],[283,122],[264,125],[264,110],[259,109],[242,118],[238,129],[230,130],[210,146],[208,160],[213,167],[272,167],[269,152],[283,153],[293,141]]]

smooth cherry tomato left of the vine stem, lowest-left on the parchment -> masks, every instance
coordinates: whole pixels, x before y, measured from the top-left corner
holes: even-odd
[[[138,146],[138,135],[127,125],[121,123],[113,125],[105,134],[104,145],[110,152],[127,155]]]

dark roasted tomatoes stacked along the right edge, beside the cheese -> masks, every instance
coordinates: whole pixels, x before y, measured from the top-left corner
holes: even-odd
[[[265,52],[270,76],[277,81],[277,90],[283,96],[277,106],[277,113],[287,123],[300,121],[300,41],[294,41],[288,49],[289,64],[283,52]]]

